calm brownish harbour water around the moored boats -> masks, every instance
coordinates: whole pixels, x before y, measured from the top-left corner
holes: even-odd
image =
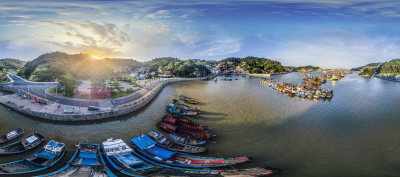
[[[273,79],[298,83],[299,74]],[[400,176],[400,83],[347,75],[323,86],[334,90],[332,100],[316,101],[276,93],[259,80],[239,77],[174,84],[139,112],[101,122],[42,121],[0,106],[0,134],[19,126],[25,128],[25,135],[40,131],[68,145],[63,159],[67,161],[78,142],[101,143],[110,137],[128,142],[156,128],[166,104],[184,93],[202,102],[204,114],[197,122],[217,134],[204,155],[248,155],[252,162],[243,167],[280,168],[283,172],[278,176]],[[32,152],[0,156],[0,162]]]

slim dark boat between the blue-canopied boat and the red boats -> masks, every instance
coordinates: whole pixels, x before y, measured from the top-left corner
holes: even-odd
[[[155,130],[151,130],[147,134],[151,138],[153,138],[160,146],[164,147],[165,149],[171,150],[171,151],[186,152],[186,153],[190,153],[190,154],[201,153],[201,152],[207,151],[207,149],[203,148],[203,147],[182,145],[182,144],[174,143],[173,141],[165,138],[163,134],[161,134],[160,132],[155,131]]]

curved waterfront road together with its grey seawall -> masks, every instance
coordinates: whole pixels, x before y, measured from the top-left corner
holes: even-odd
[[[122,104],[116,107],[106,107],[101,108],[99,111],[88,111],[87,107],[73,107],[78,111],[78,113],[66,114],[60,110],[60,106],[62,108],[71,108],[69,105],[58,104],[56,102],[49,102],[47,105],[39,105],[37,103],[30,103],[29,99],[22,99],[16,95],[16,93],[11,95],[5,95],[0,97],[0,104],[13,109],[22,114],[30,115],[37,118],[42,118],[46,120],[54,120],[54,121],[63,121],[63,122],[73,122],[73,121],[92,121],[92,120],[101,120],[101,119],[111,119],[116,118],[117,116],[129,114],[139,110],[140,108],[146,106],[155,96],[157,96],[160,91],[167,85],[177,83],[177,82],[191,82],[191,81],[202,81],[207,78],[178,78],[175,80],[167,80],[162,83],[159,83],[152,90],[147,91],[142,97],[128,102],[126,104]],[[16,88],[8,88],[3,87],[1,90],[16,92],[18,89]],[[28,104],[29,107],[26,106]],[[33,104],[33,105],[32,105]],[[60,112],[61,111],[61,112]],[[57,113],[59,112],[59,113]]]

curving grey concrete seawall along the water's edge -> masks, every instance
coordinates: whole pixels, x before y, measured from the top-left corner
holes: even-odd
[[[33,111],[29,108],[25,108],[24,106],[20,106],[15,104],[13,101],[1,101],[0,103],[4,106],[13,109],[15,111],[21,112],[23,114],[27,114],[30,116],[54,120],[54,121],[90,121],[90,120],[99,120],[99,119],[109,119],[116,118],[117,116],[132,113],[143,106],[147,105],[155,96],[157,96],[160,91],[167,86],[168,84],[177,83],[177,82],[187,82],[187,81],[199,81],[204,80],[205,78],[194,78],[194,79],[179,79],[179,80],[170,80],[163,83],[160,83],[153,90],[146,93],[140,99],[130,102],[124,105],[119,106],[118,108],[111,109],[110,111],[101,111],[95,113],[87,113],[87,114],[57,114],[57,113],[48,113],[48,112],[40,112]],[[1,90],[10,91],[10,92],[18,92],[18,89],[14,87],[2,87]]]

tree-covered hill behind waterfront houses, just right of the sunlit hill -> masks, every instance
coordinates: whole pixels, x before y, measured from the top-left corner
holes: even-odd
[[[156,58],[146,63],[149,72],[170,71],[177,77],[203,77],[211,73],[207,66],[215,65],[215,61],[200,59],[180,60],[178,58],[163,57]]]

